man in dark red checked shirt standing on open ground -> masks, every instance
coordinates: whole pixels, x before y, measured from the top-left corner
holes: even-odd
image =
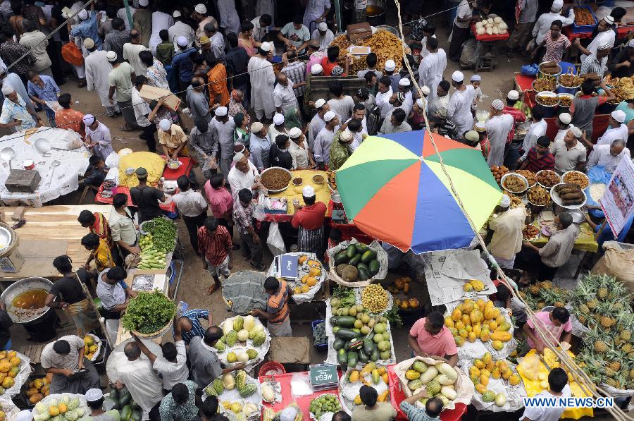
[[[228,278],[231,274],[232,247],[227,228],[218,225],[218,219],[213,216],[206,218],[204,226],[198,228],[198,252],[204,257],[203,268],[213,277],[213,285],[207,289],[207,295],[220,286],[220,275]]]

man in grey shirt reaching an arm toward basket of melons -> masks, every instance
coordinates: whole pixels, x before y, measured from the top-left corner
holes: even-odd
[[[223,337],[223,331],[217,326],[211,326],[205,331],[203,337],[196,336],[189,342],[187,356],[192,370],[192,380],[201,387],[206,387],[213,379],[223,374],[244,370],[244,363],[240,362],[233,367],[223,368],[216,355],[216,342]]]

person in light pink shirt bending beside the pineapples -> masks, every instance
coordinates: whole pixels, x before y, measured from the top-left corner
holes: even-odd
[[[535,318],[539,321],[540,327],[549,331],[552,336],[559,339],[562,344],[568,343],[568,348],[572,338],[572,323],[570,321],[570,313],[564,307],[555,307],[551,312],[535,313]],[[537,353],[544,353],[544,348],[554,347],[555,343],[549,336],[542,342],[540,336],[535,331],[535,324],[528,319],[524,324],[524,332],[528,336],[528,346],[535,348]]]

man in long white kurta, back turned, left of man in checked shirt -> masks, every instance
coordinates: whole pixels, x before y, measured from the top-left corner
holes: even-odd
[[[258,54],[249,59],[247,66],[251,78],[251,106],[258,120],[263,117],[271,119],[275,111],[273,101],[275,73],[273,73],[273,66],[266,59],[270,51],[271,44],[263,42],[258,49]]]

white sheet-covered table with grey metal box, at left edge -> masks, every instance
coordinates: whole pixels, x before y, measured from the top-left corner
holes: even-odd
[[[47,144],[36,148],[37,141]],[[30,129],[3,136],[0,142],[1,149],[11,149],[14,154],[11,162],[3,159],[0,164],[0,199],[4,201],[42,206],[44,202],[77,190],[79,177],[88,169],[90,152],[72,130],[48,127]],[[81,146],[69,150],[70,142],[79,142]],[[23,161],[27,159],[35,164],[34,169],[41,177],[39,185],[34,193],[9,192],[5,183],[10,170],[24,169]]]

